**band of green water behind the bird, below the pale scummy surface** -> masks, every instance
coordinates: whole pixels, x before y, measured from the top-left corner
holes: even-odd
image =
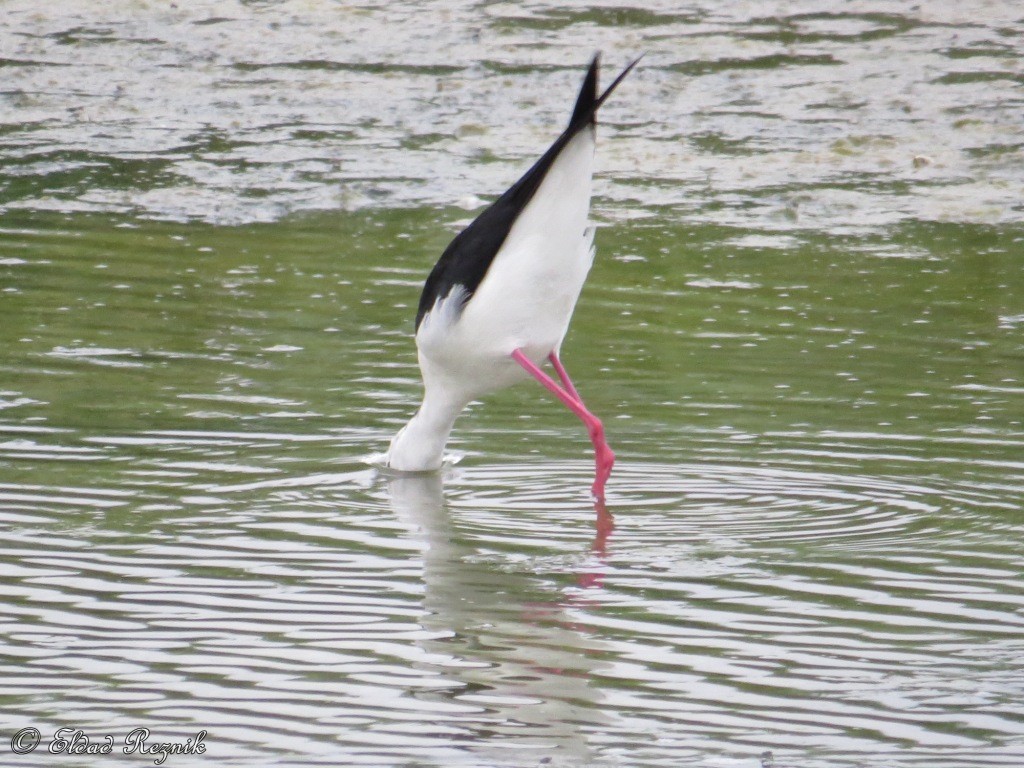
[[[416,403],[412,315],[457,217],[10,217],[9,415],[84,435],[336,430],[355,440],[339,459],[355,460]],[[566,356],[641,461],[693,459],[709,440],[730,460],[767,460],[815,439],[888,442],[906,461],[1010,460],[1024,414],[1022,231],[921,223],[780,247],[720,227],[609,225]],[[492,432],[572,426],[540,399],[495,396],[457,440],[507,456],[518,449],[489,445]],[[564,440],[552,452],[582,453]],[[819,465],[844,466],[841,453]]]

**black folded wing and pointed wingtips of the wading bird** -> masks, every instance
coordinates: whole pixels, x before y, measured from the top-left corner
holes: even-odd
[[[541,182],[544,181],[559,154],[581,130],[594,124],[598,108],[639,60],[638,58],[630,63],[607,90],[598,96],[597,72],[600,55],[594,56],[580,89],[580,96],[577,98],[568,127],[522,178],[512,184],[504,195],[456,236],[434,264],[420,295],[420,304],[416,311],[417,331],[427,312],[434,308],[439,299],[452,293],[454,288],[460,287],[465,291],[464,305],[469,301],[505,243],[512,224],[532,200],[534,194],[541,186]]]

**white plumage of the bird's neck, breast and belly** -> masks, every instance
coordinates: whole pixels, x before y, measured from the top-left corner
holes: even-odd
[[[462,410],[528,378],[513,351],[538,365],[558,351],[594,261],[594,146],[592,126],[565,145],[465,306],[457,287],[424,316],[416,335],[423,404],[391,441],[388,466],[439,468]]]

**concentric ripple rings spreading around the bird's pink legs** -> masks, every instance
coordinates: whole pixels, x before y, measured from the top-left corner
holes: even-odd
[[[453,504],[486,503],[481,484],[506,487],[503,505],[517,515],[579,504],[588,487],[581,463],[543,468],[465,470]],[[558,501],[561,499],[561,501]],[[672,466],[620,461],[608,485],[608,508],[624,525],[652,538],[669,526],[675,542],[728,537],[754,543],[827,544],[870,539],[876,544],[918,530],[943,510],[980,506],[982,494],[930,487],[904,479],[773,467]]]

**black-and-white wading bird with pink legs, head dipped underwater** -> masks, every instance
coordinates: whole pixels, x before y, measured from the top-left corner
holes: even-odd
[[[532,378],[587,428],[595,462],[591,493],[604,501],[614,453],[560,349],[594,261],[589,214],[597,111],[639,60],[598,95],[600,53],[594,55],[568,126],[431,269],[415,326],[423,400],[391,440],[387,467],[440,469],[455,421],[471,401]],[[544,371],[547,362],[557,381]]]

